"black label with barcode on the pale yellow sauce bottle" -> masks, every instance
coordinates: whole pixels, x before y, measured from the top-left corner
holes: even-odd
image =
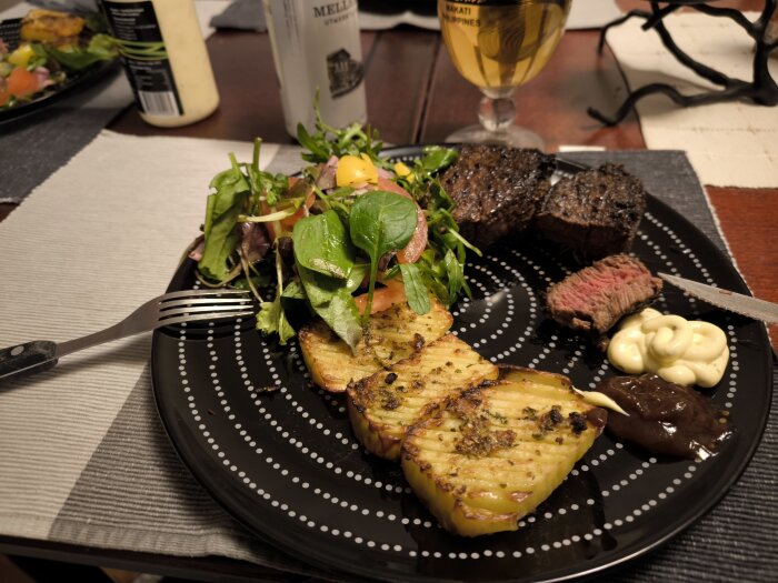
[[[140,111],[182,115],[181,98],[151,1],[103,0],[102,7],[113,37],[121,41],[122,63]]]

